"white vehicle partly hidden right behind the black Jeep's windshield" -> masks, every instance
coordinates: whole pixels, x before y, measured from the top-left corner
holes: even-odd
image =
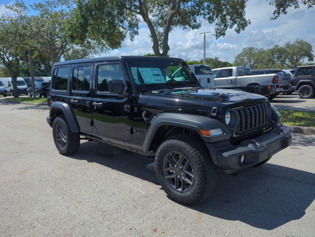
[[[199,80],[201,86],[203,87],[214,87],[215,80],[212,75],[211,67],[204,64],[191,64],[188,65],[193,74]]]

